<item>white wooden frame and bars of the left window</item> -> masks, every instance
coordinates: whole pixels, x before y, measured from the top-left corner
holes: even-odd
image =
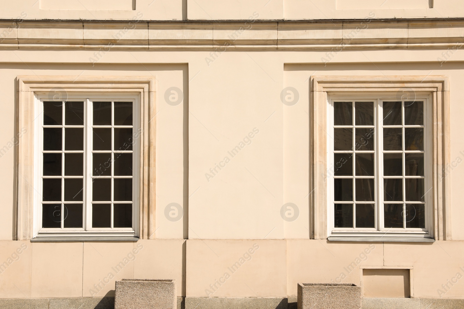
[[[43,101],[51,101],[46,95],[36,95],[35,97],[35,135],[34,143],[34,231],[33,236],[40,237],[63,237],[63,236],[80,236],[80,237],[102,237],[102,236],[139,236],[139,209],[140,209],[140,100],[136,95],[96,95],[82,94],[69,95],[66,101],[84,101],[84,203],[83,203],[83,228],[42,228],[42,175],[43,175]],[[92,222],[92,125],[93,125],[93,101],[131,101],[133,102],[133,185],[132,185],[132,227],[125,228],[93,228]],[[112,103],[113,104],[113,103]],[[112,109],[114,113],[114,109]],[[64,121],[63,121],[64,125]],[[112,137],[112,143],[114,136]],[[64,147],[64,136],[63,136]],[[63,148],[64,149],[64,148]],[[111,164],[114,168],[114,164]],[[137,174],[137,175],[136,175]],[[64,175],[64,160],[62,160],[62,175]],[[63,176],[62,176],[63,177]],[[72,178],[72,177],[71,177]],[[62,186],[62,197],[64,188]],[[111,188],[111,199],[113,199],[113,188]],[[113,209],[113,207],[111,208]],[[111,211],[111,224],[113,224],[113,211]]]

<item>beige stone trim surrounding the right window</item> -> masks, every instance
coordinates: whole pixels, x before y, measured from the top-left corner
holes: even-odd
[[[435,240],[450,240],[451,227],[449,220],[449,181],[445,167],[450,162],[449,144],[449,89],[446,76],[316,76],[311,82],[311,117],[312,181],[309,191],[314,190],[312,198],[312,225],[315,239],[325,239],[332,233],[333,215],[329,205],[333,199],[328,189],[328,115],[331,98],[346,97],[355,101],[370,98],[396,98],[396,101],[407,101],[412,97],[420,97],[428,101],[431,107],[429,115],[428,141],[431,168],[428,170],[431,184],[427,203],[431,210],[428,235]],[[349,101],[348,100],[348,101]],[[360,100],[363,101],[363,100]],[[364,100],[366,101],[366,100]],[[391,101],[391,100],[390,100]],[[333,151],[332,151],[333,152]],[[330,193],[332,194],[332,192]],[[378,201],[376,201],[378,202]],[[365,232],[365,231],[364,231]],[[344,236],[374,236],[372,233],[345,233]],[[393,232],[393,231],[392,231]],[[419,235],[422,236],[424,235]],[[409,236],[411,232],[395,231],[391,236]],[[387,236],[387,235],[386,235]]]

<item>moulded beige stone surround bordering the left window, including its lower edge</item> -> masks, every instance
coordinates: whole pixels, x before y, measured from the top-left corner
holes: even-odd
[[[102,230],[91,233],[82,231],[47,231],[40,233],[42,237],[120,237],[131,236],[140,239],[155,238],[154,208],[155,208],[155,83],[148,77],[85,77],[85,76],[19,76],[18,77],[18,201],[17,201],[17,240],[31,240],[38,236],[40,229],[40,209],[34,205],[34,195],[38,173],[42,170],[38,159],[38,130],[42,128],[39,107],[42,101],[84,101],[89,99],[101,101],[132,101],[137,104],[134,128],[140,134],[139,150],[135,162],[140,161],[136,169],[136,196],[133,196],[137,215],[133,218],[133,229],[121,228],[118,231]],[[78,99],[78,100],[77,100]],[[134,118],[136,115],[134,115]],[[88,125],[88,124],[87,124]],[[42,154],[42,153],[40,153]],[[89,152],[87,152],[89,156]],[[90,157],[89,157],[90,158]],[[88,166],[88,164],[87,164]],[[85,174],[89,174],[86,172]],[[84,176],[85,177],[85,176]],[[138,189],[140,188],[140,189]],[[40,201],[35,201],[38,204]],[[84,201],[85,202],[85,201]],[[84,206],[85,207],[85,206]],[[86,218],[88,216],[86,215]],[[85,219],[84,219],[85,221]],[[130,230],[130,231],[129,231]]]

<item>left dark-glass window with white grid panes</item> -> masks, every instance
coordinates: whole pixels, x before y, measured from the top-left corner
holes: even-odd
[[[134,235],[140,170],[136,100],[39,100],[39,235]]]

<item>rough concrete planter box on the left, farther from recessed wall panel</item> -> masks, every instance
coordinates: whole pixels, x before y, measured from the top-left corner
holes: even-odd
[[[177,309],[177,284],[171,279],[116,281],[115,309]]]

